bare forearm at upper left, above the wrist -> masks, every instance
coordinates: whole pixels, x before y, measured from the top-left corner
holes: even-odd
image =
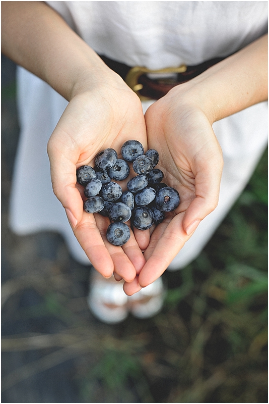
[[[2,52],[70,100],[108,68],[43,2],[2,2]]]

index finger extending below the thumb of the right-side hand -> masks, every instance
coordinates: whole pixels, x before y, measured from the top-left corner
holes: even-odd
[[[160,225],[155,229],[157,232],[155,238],[156,244],[154,244],[154,249],[149,251],[150,256],[148,259],[148,251],[145,251],[144,255],[146,256],[147,262],[139,275],[139,284],[142,287],[154,282],[164,273],[185,242],[189,239],[189,236],[187,236],[183,228],[183,217],[184,212],[179,213],[170,221],[164,231],[163,229],[159,230],[163,233],[158,242],[156,242],[156,240],[159,234],[158,227]]]

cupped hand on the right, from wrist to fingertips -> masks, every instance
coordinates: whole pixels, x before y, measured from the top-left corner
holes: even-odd
[[[221,147],[195,97],[183,96],[177,87],[149,107],[145,120],[148,147],[158,150],[163,182],[177,189],[180,204],[152,231],[144,252],[147,262],[133,282],[124,284],[127,294],[160,277],[200,221],[218,204]]]

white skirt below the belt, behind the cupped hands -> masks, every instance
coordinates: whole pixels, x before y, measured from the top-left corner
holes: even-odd
[[[10,227],[18,235],[58,232],[74,259],[89,265],[52,191],[46,152],[48,139],[68,103],[25,69],[19,67],[17,75],[21,133],[12,181]],[[150,104],[143,103],[144,112]],[[214,123],[213,129],[224,158],[219,205],[199,224],[169,270],[181,269],[199,255],[247,184],[267,145],[267,102],[224,118]]]

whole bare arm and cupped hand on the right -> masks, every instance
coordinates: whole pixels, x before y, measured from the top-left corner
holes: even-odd
[[[266,34],[175,86],[146,112],[148,147],[159,151],[164,182],[178,190],[181,203],[153,230],[145,266],[124,284],[127,294],[155,281],[199,222],[216,208],[223,159],[212,124],[266,100],[267,77]]]

